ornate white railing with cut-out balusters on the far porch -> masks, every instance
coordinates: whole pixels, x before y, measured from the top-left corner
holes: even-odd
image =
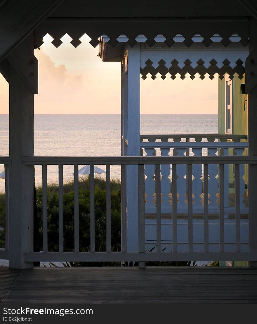
[[[223,134],[176,134],[176,135],[140,135],[140,148],[142,155],[146,156],[242,156],[246,153],[248,143],[245,142],[246,135],[223,135]],[[243,140],[244,142],[240,142]],[[219,141],[219,142],[218,142]],[[240,165],[240,213],[248,214],[248,207],[245,206],[245,167]],[[146,192],[146,213],[156,213],[155,198],[155,172],[154,165],[147,165],[145,168]],[[161,197],[162,197],[162,213],[172,213],[172,178],[171,165],[162,165],[161,167]],[[193,212],[194,214],[203,214],[203,172],[202,165],[193,165]],[[208,185],[209,185],[209,213],[218,213],[218,165],[210,164],[208,168]],[[224,207],[225,213],[235,213],[235,208],[229,206],[229,193],[234,194],[233,170],[229,172],[229,165],[224,168]],[[229,183],[229,174],[232,178]],[[177,179],[177,213],[187,213],[187,169],[185,165],[180,165],[176,169]],[[233,189],[231,189],[233,188]]]

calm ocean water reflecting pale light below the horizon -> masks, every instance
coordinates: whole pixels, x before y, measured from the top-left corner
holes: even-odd
[[[8,155],[8,128],[8,115],[1,115],[0,155]],[[218,114],[143,114],[140,133],[218,133]],[[120,156],[120,115],[35,115],[34,155]],[[64,166],[63,177],[64,181],[72,179],[73,166]],[[120,178],[119,166],[111,166],[111,177]],[[42,183],[41,166],[35,167],[35,182]],[[48,166],[48,182],[58,182],[58,166]],[[0,191],[4,190],[5,181],[0,179]]]

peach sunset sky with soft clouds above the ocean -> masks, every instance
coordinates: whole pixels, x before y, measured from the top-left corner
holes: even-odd
[[[85,34],[75,48],[64,35],[56,48],[46,35],[34,54],[39,60],[39,94],[35,95],[35,114],[120,113],[120,62],[102,62],[98,46],[89,44]],[[8,114],[8,84],[0,74],[0,114]],[[142,114],[218,113],[217,76],[191,80],[151,76],[140,81]]]

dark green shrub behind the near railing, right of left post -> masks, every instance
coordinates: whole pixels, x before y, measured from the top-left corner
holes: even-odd
[[[106,181],[95,179],[95,251],[106,250]],[[74,250],[74,184],[63,186],[63,249]],[[59,249],[58,185],[48,186],[48,250]],[[37,188],[40,249],[42,249],[42,187]],[[90,190],[89,177],[79,181],[79,242],[80,251],[90,250]],[[111,181],[111,244],[120,251],[120,182]]]

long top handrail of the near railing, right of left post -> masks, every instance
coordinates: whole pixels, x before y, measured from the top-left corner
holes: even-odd
[[[257,156],[25,156],[24,165],[71,164],[251,164]]]

